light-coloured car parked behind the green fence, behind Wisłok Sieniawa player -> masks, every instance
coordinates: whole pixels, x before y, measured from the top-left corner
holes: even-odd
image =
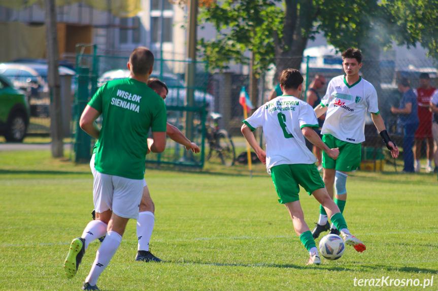
[[[103,73],[97,79],[97,86],[100,87],[110,80],[123,79],[129,77],[129,70],[111,70]],[[159,78],[163,81],[167,88],[169,88],[169,94],[165,99],[166,105],[183,106],[186,98],[186,87],[184,81],[177,75],[172,73],[163,73],[162,76],[152,73],[151,77]],[[205,93],[200,90],[194,91],[194,101],[197,104],[203,104],[206,101],[206,106],[209,111],[212,111],[214,106],[214,97],[211,94]]]

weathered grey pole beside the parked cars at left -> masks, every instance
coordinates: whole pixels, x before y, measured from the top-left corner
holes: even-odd
[[[61,86],[58,71],[58,32],[56,29],[55,0],[46,0],[46,40],[47,40],[47,82],[50,94],[50,135],[52,137],[52,156],[64,156],[62,141]]]

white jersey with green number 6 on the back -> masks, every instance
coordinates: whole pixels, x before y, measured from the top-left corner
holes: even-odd
[[[263,127],[269,174],[275,165],[317,161],[301,132],[303,127],[318,127],[315,112],[308,103],[290,95],[279,96],[258,108],[244,123],[252,131]]]

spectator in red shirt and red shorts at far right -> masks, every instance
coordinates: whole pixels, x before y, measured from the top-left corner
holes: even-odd
[[[436,88],[430,86],[428,73],[420,74],[420,87],[417,88],[418,101],[418,119],[420,121],[418,130],[415,132],[415,172],[420,172],[421,144],[424,139],[427,140],[427,164],[426,173],[433,172],[433,137],[432,137],[432,118],[433,113],[430,111],[430,99]]]

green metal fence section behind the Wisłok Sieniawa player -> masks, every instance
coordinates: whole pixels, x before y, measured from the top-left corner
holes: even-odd
[[[80,130],[79,119],[97,88],[105,82],[129,76],[127,61],[129,56],[96,55],[96,48],[91,46],[91,54],[84,54],[84,47],[79,46],[76,58],[78,90],[75,96],[74,110],[74,156],[77,162],[89,161],[95,140]],[[196,67],[195,84],[187,88],[185,85],[185,69],[189,63]],[[208,84],[207,66],[203,62],[181,60],[155,60],[153,77],[162,80],[169,88],[164,103],[167,109],[167,122],[176,126],[187,138],[195,142],[201,152],[193,154],[185,147],[169,137],[163,153],[150,153],[146,163],[160,165],[179,165],[203,168],[205,153],[206,114],[213,106],[214,97],[206,93]],[[190,90],[191,89],[191,90]],[[187,95],[193,92],[193,105],[187,106]],[[96,120],[99,123],[99,118]]]

